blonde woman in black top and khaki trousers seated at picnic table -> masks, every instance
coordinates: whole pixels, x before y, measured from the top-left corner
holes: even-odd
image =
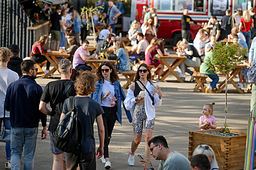
[[[180,69],[181,73],[179,74],[180,78],[186,78],[186,67],[200,67],[201,64],[201,56],[198,54],[197,49],[194,48],[193,45],[188,45],[187,40],[183,39],[180,43],[182,47],[182,52],[187,56],[187,59],[181,62]],[[192,75],[191,75],[192,76]],[[192,77],[191,77],[192,79]]]

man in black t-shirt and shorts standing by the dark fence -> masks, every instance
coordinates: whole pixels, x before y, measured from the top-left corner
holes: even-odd
[[[62,24],[62,16],[59,15],[59,13],[62,11],[62,9],[59,7],[59,5],[56,7],[56,12],[54,12],[49,21],[48,30],[50,30],[48,33],[52,34],[51,37],[51,49],[53,51],[59,51],[59,44],[60,40],[62,39],[62,34],[60,32],[60,28],[64,31],[63,24]],[[54,43],[56,41],[56,48],[53,47]]]

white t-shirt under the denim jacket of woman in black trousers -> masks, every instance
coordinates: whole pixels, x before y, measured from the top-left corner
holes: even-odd
[[[110,104],[111,100],[109,100],[109,99],[111,99],[113,96],[115,96],[115,88],[114,88],[114,85],[111,84],[111,82],[104,79],[104,84],[102,86],[101,97],[105,96],[108,91],[111,91],[111,94],[108,95],[107,98],[103,99],[101,101],[100,105],[101,106],[106,106],[106,107],[113,107],[114,105],[112,106]]]

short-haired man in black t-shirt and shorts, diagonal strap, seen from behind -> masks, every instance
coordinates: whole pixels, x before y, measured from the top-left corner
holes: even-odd
[[[51,81],[45,86],[41,96],[39,109],[46,115],[51,116],[48,130],[50,131],[51,152],[53,153],[52,169],[62,169],[63,151],[54,145],[54,136],[62,114],[63,103],[66,98],[76,96],[73,81],[70,80],[72,74],[72,64],[68,59],[59,61],[60,80]],[[46,104],[50,102],[52,111],[48,110]]]

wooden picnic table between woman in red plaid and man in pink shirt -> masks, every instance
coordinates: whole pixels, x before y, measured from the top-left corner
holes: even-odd
[[[51,62],[51,64],[53,65],[52,70],[50,70],[49,73],[45,74],[44,78],[49,77],[52,73],[58,70],[59,60],[57,59],[57,56],[63,56],[63,59],[67,59],[70,57],[70,54],[66,54],[64,52],[58,52],[58,51],[52,51],[51,53],[42,53],[42,55],[44,55],[47,58],[47,60]]]

